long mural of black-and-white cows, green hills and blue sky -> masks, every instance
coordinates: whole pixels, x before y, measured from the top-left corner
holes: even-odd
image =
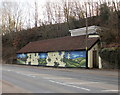
[[[17,54],[17,62],[40,66],[86,67],[86,51]]]

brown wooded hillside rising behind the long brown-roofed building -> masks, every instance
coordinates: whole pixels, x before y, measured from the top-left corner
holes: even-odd
[[[103,21],[100,16],[89,17],[88,26],[97,25],[104,26]],[[114,23],[116,24],[116,23]],[[11,32],[2,36],[2,58],[4,63],[12,63],[13,59],[16,58],[16,52],[21,49],[23,46],[32,41],[38,41],[43,39],[57,38],[70,36],[70,29],[77,29],[80,27],[85,27],[85,19],[76,20],[72,22],[65,22],[60,24],[50,24],[42,25],[40,27],[35,27],[32,29],[22,30],[19,32]],[[106,26],[105,26],[106,27]],[[108,27],[108,26],[107,26]],[[114,32],[113,32],[114,33]],[[102,40],[107,43],[116,43],[118,38],[115,38],[116,35],[102,31]],[[117,41],[116,41],[117,40]],[[12,60],[12,61],[10,61]]]

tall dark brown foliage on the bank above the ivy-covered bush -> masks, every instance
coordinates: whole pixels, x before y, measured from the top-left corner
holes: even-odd
[[[113,2],[114,4],[114,2]],[[100,5],[100,26],[98,30],[101,41],[110,43],[120,42],[120,10],[116,9],[116,6],[109,6],[107,3]]]

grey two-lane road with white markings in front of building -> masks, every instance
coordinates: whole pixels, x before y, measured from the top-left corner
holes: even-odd
[[[3,93],[118,93],[118,72],[2,66]]]

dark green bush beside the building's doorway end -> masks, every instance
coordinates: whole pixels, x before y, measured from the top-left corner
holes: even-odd
[[[104,48],[100,50],[103,68],[120,69],[120,48]]]

